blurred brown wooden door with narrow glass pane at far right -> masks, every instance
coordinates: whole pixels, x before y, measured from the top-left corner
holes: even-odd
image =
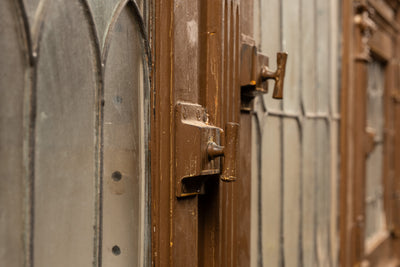
[[[391,1],[353,2],[343,2],[341,264],[384,266],[399,257],[393,101],[398,11]]]

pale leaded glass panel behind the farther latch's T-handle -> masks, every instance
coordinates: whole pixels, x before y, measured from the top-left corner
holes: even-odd
[[[340,121],[333,115],[340,112],[339,3],[259,0],[254,16],[255,40],[269,56],[271,68],[276,67],[276,52],[289,53],[283,101],[264,96],[261,180],[268,187],[261,192],[262,260],[264,266],[336,266]],[[283,114],[268,113],[278,109]],[[281,124],[273,125],[279,119]],[[275,128],[279,125],[283,131]],[[273,166],[267,165],[270,161]],[[275,164],[282,167],[280,172]],[[275,180],[278,175],[281,182]],[[279,196],[272,192],[279,189]],[[280,220],[274,217],[278,209]],[[266,223],[265,212],[273,223]],[[265,230],[267,226],[271,229]]]

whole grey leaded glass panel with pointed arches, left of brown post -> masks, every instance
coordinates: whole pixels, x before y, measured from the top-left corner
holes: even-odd
[[[0,10],[0,265],[147,265],[145,5]]]

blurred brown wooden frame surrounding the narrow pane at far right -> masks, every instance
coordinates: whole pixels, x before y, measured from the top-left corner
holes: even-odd
[[[365,5],[366,9],[357,7]],[[393,139],[399,133],[393,128],[392,92],[395,84],[395,66],[399,61],[399,1],[375,0],[342,1],[342,94],[341,94],[341,190],[340,190],[340,263],[341,266],[375,266],[383,258],[394,260],[398,240],[393,230]],[[376,24],[372,37],[363,31],[364,25],[355,23],[355,16],[363,11],[373,12]],[[394,12],[393,12],[394,11]],[[392,13],[393,12],[393,13]],[[383,36],[385,35],[385,36]],[[386,37],[386,38],[383,38]],[[368,43],[365,43],[368,40]],[[364,43],[363,43],[364,42]],[[371,53],[385,63],[384,94],[384,212],[389,235],[377,240],[374,249],[365,249],[365,149],[367,56]],[[399,255],[397,255],[399,256]]]

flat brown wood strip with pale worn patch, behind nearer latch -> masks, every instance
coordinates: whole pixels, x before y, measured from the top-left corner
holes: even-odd
[[[173,3],[173,104],[177,101],[199,103],[199,1]],[[164,11],[165,12],[165,11]],[[173,135],[172,135],[173,136]],[[163,159],[167,160],[167,158]],[[171,158],[174,162],[173,158]],[[175,164],[178,164],[175,162]],[[172,168],[174,164],[169,166]],[[172,169],[172,174],[173,174]],[[175,179],[174,175],[170,179]],[[198,197],[173,198],[173,228],[170,246],[171,266],[197,266]],[[188,257],[190,255],[190,257]]]

